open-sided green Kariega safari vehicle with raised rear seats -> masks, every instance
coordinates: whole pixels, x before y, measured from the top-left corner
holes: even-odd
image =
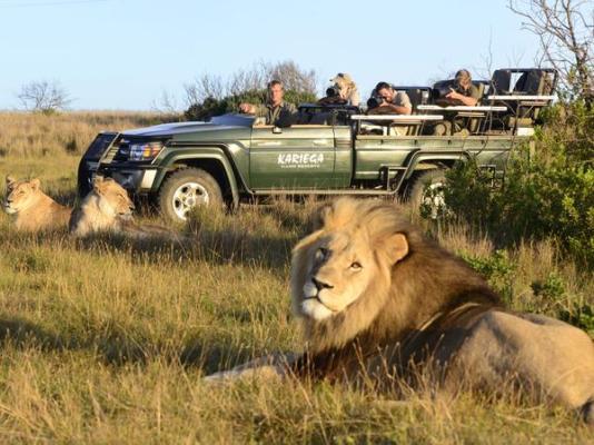
[[[515,89],[514,72],[541,86]],[[494,181],[503,177],[509,150],[529,136],[537,111],[553,99],[552,89],[543,87],[551,72],[498,70],[479,107],[443,108],[418,95],[423,102],[414,103],[410,116],[305,105],[299,125],[288,128],[225,115],[209,122],[102,132],[81,159],[79,194],[89,190],[93,175],[112,177],[151,198],[172,220],[185,220],[199,205],[237,207],[273,195],[407,197],[433,206],[433,215],[443,205],[438,191],[454,164],[474,157]],[[473,120],[473,126],[461,134],[430,134],[432,125],[448,119]]]

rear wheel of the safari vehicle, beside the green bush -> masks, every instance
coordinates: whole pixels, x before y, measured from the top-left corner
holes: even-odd
[[[447,215],[444,190],[447,179],[445,170],[423,171],[417,176],[410,189],[410,205],[415,212],[424,218],[439,219]]]

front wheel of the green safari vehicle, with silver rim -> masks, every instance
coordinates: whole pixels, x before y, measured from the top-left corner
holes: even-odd
[[[185,168],[167,178],[158,201],[168,219],[185,222],[198,206],[222,206],[222,194],[210,174],[200,168]]]

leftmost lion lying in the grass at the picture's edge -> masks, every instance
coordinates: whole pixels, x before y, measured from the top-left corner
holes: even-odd
[[[6,178],[2,208],[13,216],[18,230],[38,231],[68,226],[72,210],[47,196],[40,185],[37,178],[21,181],[11,176]]]

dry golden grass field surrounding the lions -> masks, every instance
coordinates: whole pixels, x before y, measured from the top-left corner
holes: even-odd
[[[154,119],[0,115],[0,175],[39,176],[72,204],[95,134]],[[313,207],[279,200],[200,212],[184,245],[21,235],[1,214],[0,442],[594,443],[573,414],[515,397],[417,393],[378,404],[379,395],[324,384],[206,385],[205,374],[299,348],[289,254]],[[594,304],[590,274],[558,260],[552,243],[502,251],[464,227],[433,231],[513,308],[567,317]]]

